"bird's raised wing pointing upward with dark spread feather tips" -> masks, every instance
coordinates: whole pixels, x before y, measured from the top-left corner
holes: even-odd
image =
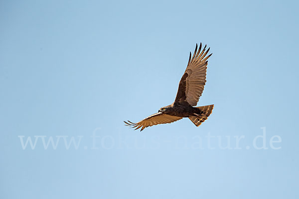
[[[176,98],[174,102],[188,103],[191,106],[195,106],[203,92],[204,85],[206,83],[206,72],[207,72],[207,59],[212,55],[208,55],[210,48],[205,52],[206,46],[201,51],[201,43],[197,51],[197,44],[195,47],[194,54],[191,59],[191,52],[187,68],[183,77],[181,78]],[[201,52],[200,52],[201,51]]]

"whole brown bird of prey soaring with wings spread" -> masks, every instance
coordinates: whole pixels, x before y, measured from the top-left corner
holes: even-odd
[[[201,51],[201,43],[197,51],[197,44],[193,56],[191,52],[187,68],[181,78],[176,98],[170,105],[161,107],[157,113],[154,113],[147,118],[134,123],[128,120],[124,121],[127,126],[139,129],[141,131],[148,126],[156,124],[165,124],[177,121],[183,117],[188,117],[196,126],[204,122],[212,113],[213,105],[196,106],[206,83],[207,59],[212,55],[208,55],[210,48],[206,51],[204,46]]]

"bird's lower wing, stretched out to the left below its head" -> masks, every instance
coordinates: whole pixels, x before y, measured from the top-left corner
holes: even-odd
[[[132,128],[136,128],[136,129],[141,128],[140,131],[142,131],[146,127],[157,125],[157,124],[171,123],[171,122],[177,121],[181,118],[182,117],[168,115],[163,112],[157,112],[157,113],[154,113],[137,123],[131,122],[129,120],[128,120],[128,122],[126,122],[126,121],[124,121],[124,122],[126,123],[125,124],[126,126],[132,126]],[[136,129],[134,129],[134,130],[136,130]]]

